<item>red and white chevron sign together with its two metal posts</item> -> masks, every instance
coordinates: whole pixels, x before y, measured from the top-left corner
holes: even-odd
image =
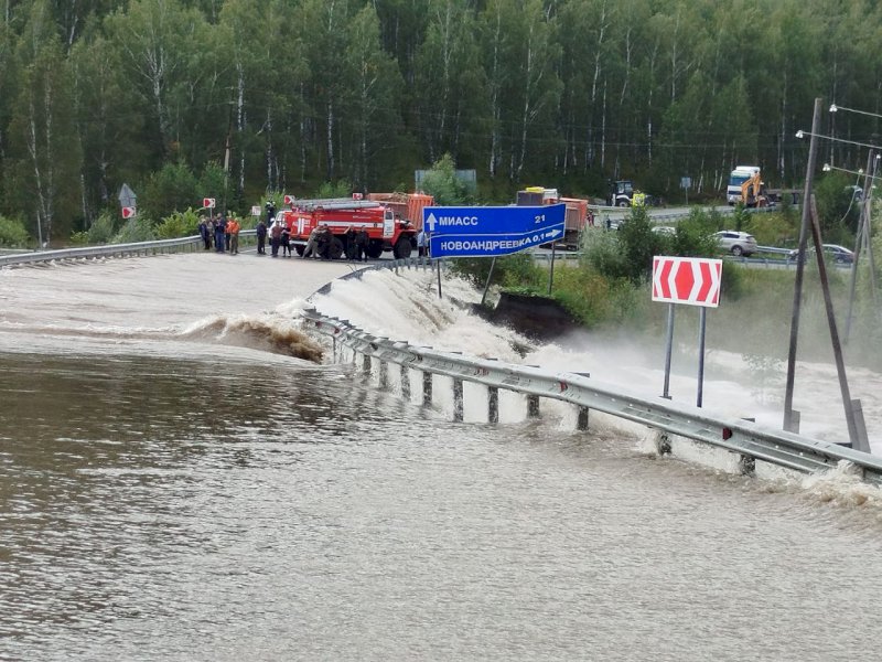
[[[662,397],[670,398],[670,355],[674,346],[674,305],[700,306],[698,320],[698,395],[700,407],[704,394],[704,329],[708,308],[720,305],[721,259],[704,257],[653,258],[653,301],[668,303],[667,343],[665,348],[665,386]]]

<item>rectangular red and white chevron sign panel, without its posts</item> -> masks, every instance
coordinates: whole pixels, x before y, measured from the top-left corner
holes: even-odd
[[[653,301],[717,308],[723,260],[707,257],[653,258]]]

